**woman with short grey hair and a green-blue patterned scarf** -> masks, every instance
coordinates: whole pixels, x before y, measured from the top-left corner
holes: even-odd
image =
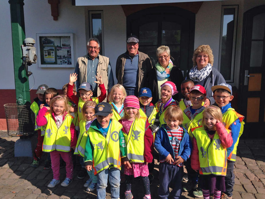
[[[170,49],[168,46],[159,46],[156,50],[157,63],[153,67],[149,76],[149,88],[152,91],[153,100],[156,103],[161,98],[160,86],[166,82],[173,82],[177,90],[180,91],[180,84],[183,75],[179,67],[175,66],[170,59]],[[178,93],[179,94],[179,93]],[[179,100],[179,95],[173,96],[175,101]]]

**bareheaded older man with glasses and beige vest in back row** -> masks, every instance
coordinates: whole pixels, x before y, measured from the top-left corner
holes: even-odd
[[[112,69],[110,66],[110,58],[102,56],[100,52],[100,42],[97,38],[91,38],[87,42],[88,54],[77,59],[75,73],[77,74],[76,87],[83,82],[88,82],[92,85],[93,96],[100,96],[100,85],[96,84],[96,75],[101,75],[106,89],[110,92],[114,85]],[[105,100],[106,101],[106,100]]]

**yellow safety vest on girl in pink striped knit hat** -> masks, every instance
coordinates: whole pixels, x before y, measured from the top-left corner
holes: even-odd
[[[147,117],[135,119],[130,127],[128,135],[123,133],[126,146],[127,158],[131,162],[144,163],[144,135]]]

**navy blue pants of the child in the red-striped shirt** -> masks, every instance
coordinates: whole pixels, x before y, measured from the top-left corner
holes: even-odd
[[[180,198],[182,194],[183,167],[159,163],[159,188],[157,194],[159,198]],[[172,191],[169,193],[169,187]]]

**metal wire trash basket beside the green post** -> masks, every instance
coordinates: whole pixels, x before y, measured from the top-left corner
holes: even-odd
[[[4,107],[9,136],[29,136],[34,133],[35,117],[30,105],[5,104]]]

